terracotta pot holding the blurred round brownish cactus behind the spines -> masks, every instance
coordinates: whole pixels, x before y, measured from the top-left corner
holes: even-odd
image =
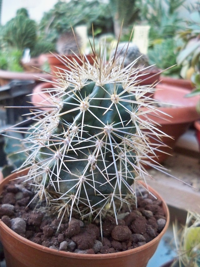
[[[70,61],[72,61],[72,62],[76,61],[80,66],[83,65],[83,61],[81,60],[81,56],[78,57],[74,54],[73,55],[66,55],[66,56],[63,56],[63,55],[56,56],[54,54],[46,54],[46,57],[47,57],[49,65],[50,65],[52,74],[58,73],[58,72],[63,74],[63,73],[65,73],[64,70],[71,71],[71,68],[73,69],[73,66],[68,65],[68,63],[67,63],[67,62],[69,62],[69,64],[72,64]],[[84,59],[84,62],[87,62],[87,60],[88,60],[88,62],[91,65],[93,65],[94,58],[95,58],[94,55],[86,55],[83,59]]]

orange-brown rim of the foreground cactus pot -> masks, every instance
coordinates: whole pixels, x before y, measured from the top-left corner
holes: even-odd
[[[14,172],[11,175],[9,175],[8,177],[4,178],[0,182],[0,185],[1,186],[5,186],[8,183],[8,181],[15,179],[15,178],[13,178],[13,176],[15,176],[16,174],[17,174],[17,176],[20,175],[20,174],[26,175],[27,172],[28,172],[28,169],[22,170],[21,172]],[[48,247],[45,247],[45,246],[39,245],[37,243],[34,243],[34,242],[22,237],[21,235],[15,233],[5,223],[3,223],[1,219],[0,219],[0,227],[2,227],[4,229],[4,231],[6,231],[8,234],[12,234],[12,236],[14,238],[18,239],[19,241],[21,241],[24,244],[27,244],[27,246],[30,246],[30,247],[32,247],[34,249],[43,250],[43,251],[46,251],[47,253],[54,254],[54,255],[59,255],[59,256],[69,257],[69,258],[77,258],[77,259],[110,259],[110,258],[126,257],[129,254],[135,254],[135,253],[138,253],[141,250],[144,250],[144,249],[147,249],[148,247],[151,247],[154,243],[156,243],[159,239],[161,239],[163,237],[163,235],[165,234],[165,232],[167,231],[167,228],[168,228],[168,225],[169,225],[169,220],[170,220],[169,209],[168,209],[167,203],[158,194],[158,192],[156,190],[154,190],[152,187],[148,186],[143,181],[136,180],[135,182],[137,182],[140,185],[142,185],[143,188],[146,188],[147,191],[150,191],[151,193],[153,193],[153,195],[156,198],[159,198],[163,203],[163,209],[164,209],[164,211],[166,213],[166,224],[165,224],[165,227],[163,228],[162,232],[160,234],[158,234],[158,236],[155,237],[153,240],[149,241],[148,243],[146,243],[146,244],[144,244],[144,245],[142,245],[140,247],[137,247],[137,248],[134,248],[134,249],[129,249],[129,250],[122,251],[122,252],[110,253],[110,254],[79,254],[79,253],[73,253],[73,252],[66,252],[66,251],[50,249]]]

